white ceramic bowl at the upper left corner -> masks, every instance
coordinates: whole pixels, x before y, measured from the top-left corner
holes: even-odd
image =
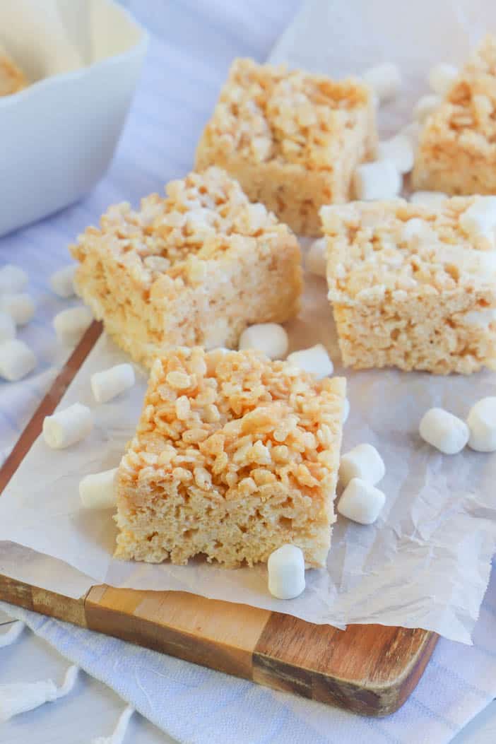
[[[41,78],[0,97],[0,235],[76,202],[103,176],[148,42],[112,0],[73,0],[62,19],[36,18],[30,1],[0,3],[0,43]]]

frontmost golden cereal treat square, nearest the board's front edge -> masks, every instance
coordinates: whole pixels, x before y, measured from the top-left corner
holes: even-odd
[[[117,473],[116,556],[228,567],[329,551],[346,382],[245,350],[155,360]]]

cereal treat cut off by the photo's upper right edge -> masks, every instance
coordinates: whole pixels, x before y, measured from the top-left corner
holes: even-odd
[[[496,193],[496,36],[487,36],[421,132],[416,190]]]

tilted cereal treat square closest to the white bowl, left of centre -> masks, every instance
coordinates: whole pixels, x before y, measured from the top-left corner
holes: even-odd
[[[219,168],[109,209],[71,254],[78,293],[138,362],[176,345],[232,347],[249,324],[298,311],[300,248]]]

